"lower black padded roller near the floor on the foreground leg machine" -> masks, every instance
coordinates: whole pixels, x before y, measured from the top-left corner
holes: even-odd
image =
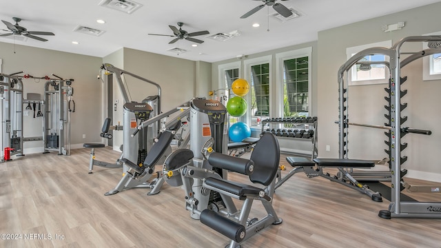
[[[205,209],[201,213],[201,223],[218,231],[236,242],[242,242],[247,229],[229,218],[216,214],[216,212]]]

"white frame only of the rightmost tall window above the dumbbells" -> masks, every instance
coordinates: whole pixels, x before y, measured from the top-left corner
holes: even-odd
[[[277,102],[277,116],[283,117],[283,78],[284,78],[284,73],[283,73],[283,62],[289,59],[296,59],[296,58],[300,58],[303,56],[307,56],[308,57],[308,98],[309,98],[309,102],[308,102],[308,113],[309,116],[311,116],[311,110],[312,110],[312,106],[311,106],[311,96],[312,96],[312,72],[311,72],[311,68],[312,68],[312,47],[308,47],[308,48],[301,48],[298,50],[292,50],[292,51],[288,51],[288,52],[280,52],[278,54],[276,54],[276,68],[277,68],[277,72],[276,72],[276,81],[277,81],[277,85],[276,85],[276,102]]]

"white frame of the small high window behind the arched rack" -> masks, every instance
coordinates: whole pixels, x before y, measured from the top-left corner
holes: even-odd
[[[350,48],[346,48],[346,56],[347,59],[350,59],[353,54],[356,54],[358,52],[361,52],[362,50],[368,49],[368,48],[376,48],[376,47],[383,47],[383,48],[391,48],[392,47],[392,41],[380,41],[376,43],[370,43],[365,45],[357,45]],[[389,61],[389,56],[385,56],[385,60]],[[386,65],[384,65],[385,71],[384,71],[384,79],[369,79],[369,80],[352,80],[353,70],[356,65],[353,65],[353,68],[348,71],[349,76],[349,82],[348,85],[370,85],[370,84],[381,84],[381,83],[389,83],[389,68],[387,68]]]

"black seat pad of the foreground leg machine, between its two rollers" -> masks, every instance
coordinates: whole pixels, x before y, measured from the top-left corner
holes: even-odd
[[[252,185],[245,185],[242,183],[236,183],[232,181],[226,181],[218,178],[205,178],[205,184],[211,187],[215,187],[216,189],[223,190],[225,192],[229,192],[236,196],[245,196],[245,195],[259,195],[259,192],[263,191],[258,187],[254,187]]]

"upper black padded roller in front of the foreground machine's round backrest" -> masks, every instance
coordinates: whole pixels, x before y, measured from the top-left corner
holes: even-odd
[[[208,163],[213,167],[227,169],[247,176],[253,174],[254,169],[254,162],[249,159],[220,154],[218,152],[209,154]]]

